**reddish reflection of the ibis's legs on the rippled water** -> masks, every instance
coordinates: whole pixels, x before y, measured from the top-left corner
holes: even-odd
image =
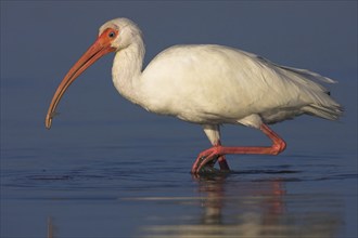
[[[226,186],[228,176],[228,173],[194,176],[199,183],[199,191],[203,196],[202,224],[225,224],[225,215],[222,214],[225,206],[232,202],[243,202],[241,206],[247,208],[257,207],[260,211],[263,225],[274,224],[278,221],[278,217],[284,212],[282,196],[285,194],[283,183],[279,178],[269,182],[236,184],[238,195],[242,193],[241,196],[251,197],[240,201],[236,200],[236,195],[226,191],[226,188],[230,187]],[[245,213],[242,215],[245,216]]]

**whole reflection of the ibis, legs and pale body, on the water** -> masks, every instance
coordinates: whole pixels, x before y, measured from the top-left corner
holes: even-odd
[[[194,180],[201,214],[189,224],[148,226],[145,237],[311,238],[335,237],[338,232],[340,212],[324,209],[340,207],[340,202],[324,201],[324,195],[322,203],[317,203],[317,198],[289,196],[279,178],[238,182],[230,181],[230,174],[216,174]]]

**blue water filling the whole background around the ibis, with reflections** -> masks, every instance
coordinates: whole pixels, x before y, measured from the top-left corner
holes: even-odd
[[[357,21],[340,22],[350,8],[340,12],[334,1],[206,9],[153,3],[157,12],[165,10],[162,19],[171,21],[165,23],[152,17],[152,5],[81,4],[1,2],[0,237],[358,236]],[[149,12],[140,16],[137,6]],[[213,17],[217,12],[221,18]],[[145,29],[145,64],[172,43],[243,48],[338,80],[328,87],[345,107],[344,117],[332,122],[304,116],[272,125],[287,143],[281,155],[228,156],[232,173],[192,176],[192,162],[209,146],[202,128],[120,97],[111,81],[113,56],[106,56],[71,87],[46,130],[51,96],[93,40],[95,24],[122,15]],[[180,15],[187,16],[181,24]],[[232,19],[242,31],[227,26]],[[272,24],[284,31],[271,34]],[[225,37],[210,38],[221,36],[212,28]],[[304,30],[311,38],[299,40]],[[225,125],[222,141],[270,143],[259,131],[238,125]]]

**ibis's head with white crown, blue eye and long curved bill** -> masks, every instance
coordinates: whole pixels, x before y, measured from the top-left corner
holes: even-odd
[[[129,47],[139,38],[141,38],[140,29],[133,22],[127,18],[112,19],[101,26],[99,36],[94,43],[69,69],[54,93],[46,116],[46,128],[51,128],[52,118],[55,115],[55,109],[61,97],[78,76],[80,76],[89,66],[91,66],[103,55],[111,52],[120,51]]]

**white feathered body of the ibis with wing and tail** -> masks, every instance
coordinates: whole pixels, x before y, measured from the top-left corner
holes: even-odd
[[[327,111],[315,110],[331,111],[338,105],[312,79],[333,82],[227,47],[177,45],[145,68],[142,93],[150,110],[193,122],[234,122],[260,115],[273,123],[304,113],[329,118]]]

